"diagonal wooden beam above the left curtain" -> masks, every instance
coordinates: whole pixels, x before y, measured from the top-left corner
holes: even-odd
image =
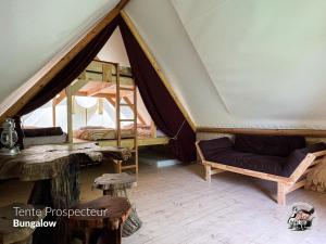
[[[96,26],[82,38],[78,43],[71,49],[53,67],[45,74],[35,85],[24,93],[21,99],[14,103],[5,113],[0,117],[0,121],[5,117],[16,115],[50,80],[60,72],[68,62],[74,59],[108,24],[110,24],[128,3],[129,0],[121,0],[115,8],[113,8]]]

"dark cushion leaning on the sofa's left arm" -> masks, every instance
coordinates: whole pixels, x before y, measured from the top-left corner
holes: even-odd
[[[231,150],[234,143],[227,137],[217,138],[212,140],[203,140],[199,142],[201,152],[206,160],[214,158],[216,154]]]

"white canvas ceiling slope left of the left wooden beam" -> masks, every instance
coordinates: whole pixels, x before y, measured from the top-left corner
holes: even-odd
[[[0,1],[0,113],[33,86],[36,80],[33,76],[38,70],[66,47],[73,46],[117,2]],[[23,89],[18,89],[22,86]]]

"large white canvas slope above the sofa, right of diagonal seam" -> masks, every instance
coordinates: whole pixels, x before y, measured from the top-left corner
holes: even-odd
[[[325,1],[172,2],[235,119],[216,126],[326,128]]]

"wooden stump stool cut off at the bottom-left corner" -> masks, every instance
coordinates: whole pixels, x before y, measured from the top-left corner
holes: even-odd
[[[18,216],[14,207],[27,210],[37,210],[39,215]],[[26,210],[26,211],[25,211]],[[0,208],[0,244],[32,244],[33,232],[35,229],[29,227],[13,227],[13,220],[20,221],[40,221],[46,217],[46,208],[43,206],[33,206],[27,204],[10,204]]]

